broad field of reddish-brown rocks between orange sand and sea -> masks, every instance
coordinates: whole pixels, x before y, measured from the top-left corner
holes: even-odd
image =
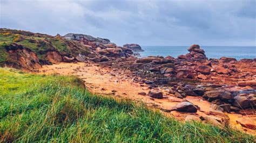
[[[188,51],[190,53],[184,55],[186,58],[175,59],[170,56],[166,58],[163,56],[149,56],[137,59],[136,62],[130,62],[129,64],[128,62],[122,62],[118,66],[123,67],[123,65],[126,65],[124,67],[127,67],[129,65],[129,69],[132,72],[136,72],[133,75],[138,75],[138,78],[137,76],[134,77],[134,81],[145,83],[149,89],[158,90],[166,85],[172,87],[169,87],[169,94],[173,97],[203,96],[208,102],[217,105],[221,109],[211,109],[211,115],[225,118],[225,112],[239,112],[240,107],[234,103],[236,100],[242,104],[242,109],[250,108],[252,104],[255,105],[255,98],[252,95],[248,96],[254,93],[253,90],[252,92],[248,91],[248,93],[244,89],[234,91],[239,89],[237,85],[241,87],[247,86],[247,88],[254,87],[254,82],[251,80],[237,82],[245,79],[245,76],[246,79],[253,79],[253,74],[246,73],[246,71],[242,73],[240,70],[240,65],[248,65],[250,63],[248,60],[237,61],[233,58],[207,59],[206,56],[196,59],[194,55],[199,53],[204,55],[203,49],[192,45],[188,48]],[[142,70],[143,76],[137,73],[140,70]],[[253,70],[251,72],[253,73]],[[147,79],[146,81],[145,78]],[[193,82],[198,85],[192,86]],[[246,93],[246,98],[236,97],[235,99],[234,97],[239,92]],[[240,98],[242,99],[240,100]]]

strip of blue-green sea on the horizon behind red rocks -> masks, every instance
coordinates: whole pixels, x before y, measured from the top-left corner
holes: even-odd
[[[141,57],[146,56],[173,56],[177,58],[178,55],[187,54],[189,46],[142,46],[144,52],[139,52]],[[207,58],[219,59],[223,56],[240,59],[254,59],[256,58],[256,46],[200,46],[204,49]]]

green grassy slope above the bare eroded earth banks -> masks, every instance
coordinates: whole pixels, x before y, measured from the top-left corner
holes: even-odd
[[[22,45],[24,48],[30,49],[37,55],[41,65],[50,63],[47,59],[49,51],[57,51],[60,55],[68,57],[75,57],[78,54],[87,55],[91,52],[89,47],[59,36],[53,37],[46,34],[0,28],[0,66],[4,63],[19,61],[17,56],[11,57],[10,52],[6,49],[11,44]],[[22,52],[19,53],[20,56],[24,56],[22,54]]]

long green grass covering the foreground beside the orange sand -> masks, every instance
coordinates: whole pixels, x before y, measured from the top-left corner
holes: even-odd
[[[230,128],[181,123],[143,104],[91,95],[75,76],[0,68],[0,142],[253,142]]]

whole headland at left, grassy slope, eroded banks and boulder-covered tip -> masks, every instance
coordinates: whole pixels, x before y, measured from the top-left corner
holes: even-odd
[[[109,39],[69,33],[60,37],[0,28],[0,66],[36,69],[59,62],[103,62],[133,57],[132,49]]]

